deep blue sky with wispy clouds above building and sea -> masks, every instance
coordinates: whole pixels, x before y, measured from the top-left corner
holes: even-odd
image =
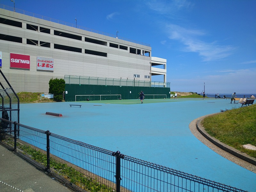
[[[171,91],[256,93],[255,0],[15,0],[15,9],[150,44],[167,60]]]

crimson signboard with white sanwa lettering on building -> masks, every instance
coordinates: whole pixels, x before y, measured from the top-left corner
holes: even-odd
[[[30,56],[10,53],[10,67],[30,69]]]

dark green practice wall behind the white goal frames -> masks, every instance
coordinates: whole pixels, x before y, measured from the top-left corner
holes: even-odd
[[[113,85],[66,84],[65,101],[75,101],[75,95],[122,95],[122,99],[138,99],[140,91],[146,95],[166,95],[170,98],[168,87],[133,87]],[[131,93],[130,93],[131,92]]]

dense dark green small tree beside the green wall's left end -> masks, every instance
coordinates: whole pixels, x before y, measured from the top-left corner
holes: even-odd
[[[65,91],[65,80],[64,79],[50,79],[49,81],[49,93],[54,94],[54,100],[62,101],[63,92]]]

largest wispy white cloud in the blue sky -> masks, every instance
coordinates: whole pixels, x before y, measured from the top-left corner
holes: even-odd
[[[219,45],[217,42],[207,43],[199,40],[199,36],[205,35],[201,30],[182,28],[173,24],[169,24],[166,27],[170,39],[180,41],[185,45],[185,52],[196,52],[203,57],[203,61],[228,57],[236,49],[230,45]]]

